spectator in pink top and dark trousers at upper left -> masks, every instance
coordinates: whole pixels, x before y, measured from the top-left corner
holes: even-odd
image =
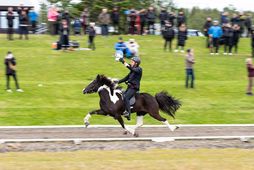
[[[48,24],[49,24],[49,31],[51,35],[58,34],[57,27],[57,19],[58,19],[59,13],[57,12],[56,7],[51,7],[48,10]]]

